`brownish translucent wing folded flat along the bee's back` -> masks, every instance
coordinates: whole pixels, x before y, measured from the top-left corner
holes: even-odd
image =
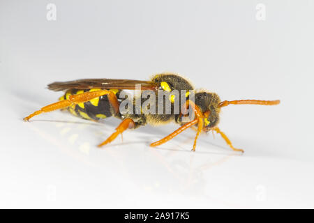
[[[135,85],[140,84],[142,90],[158,89],[158,84],[151,81],[135,79],[77,79],[70,82],[53,82],[48,84],[52,91],[66,91],[68,89],[126,89],[135,90]]]

